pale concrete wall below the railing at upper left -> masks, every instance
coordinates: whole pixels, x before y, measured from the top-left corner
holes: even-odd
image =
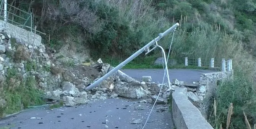
[[[6,23],[6,27],[4,27],[4,21],[0,20],[0,31],[3,29],[21,44],[26,44],[26,46],[28,46],[28,44],[33,44],[34,33],[31,31],[24,30],[23,28],[17,27],[10,23]],[[34,45],[41,46],[41,40],[41,36],[36,34]]]

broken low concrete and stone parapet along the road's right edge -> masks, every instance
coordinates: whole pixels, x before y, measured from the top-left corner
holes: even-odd
[[[172,113],[177,129],[213,129],[207,122],[207,113],[217,81],[232,78],[233,71],[206,73],[201,74],[196,93],[187,88],[176,88],[172,93]],[[191,94],[197,101],[191,101]]]

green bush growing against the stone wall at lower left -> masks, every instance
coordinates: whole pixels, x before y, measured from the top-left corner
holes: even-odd
[[[28,106],[43,104],[43,99],[36,94],[43,93],[36,87],[34,77],[30,76],[23,80],[15,68],[8,69],[2,93],[6,105],[3,110],[0,110],[0,114],[11,114]]]

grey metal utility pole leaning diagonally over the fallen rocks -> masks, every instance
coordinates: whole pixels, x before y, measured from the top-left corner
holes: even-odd
[[[118,71],[119,69],[123,68],[127,63],[129,63],[131,60],[134,58],[138,57],[144,50],[146,50],[148,47],[152,46],[155,42],[159,41],[162,37],[170,33],[171,31],[175,30],[180,24],[176,23],[174,24],[171,28],[166,30],[164,33],[160,33],[159,36],[155,39],[153,39],[151,42],[149,42],[146,46],[142,47],[139,49],[137,52],[135,52],[133,55],[131,55],[129,58],[127,58],[125,61],[120,63],[118,66],[113,68],[111,71],[109,71],[107,74],[105,74],[103,77],[101,77],[99,80],[96,82],[92,83],[88,87],[85,88],[85,90],[91,90],[92,88],[96,87],[99,85],[101,82],[103,82],[105,79],[107,79],[110,75],[112,75],[114,72]]]

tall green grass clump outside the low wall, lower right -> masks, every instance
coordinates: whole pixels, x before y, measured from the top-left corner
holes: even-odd
[[[214,96],[209,123],[215,129],[250,129],[256,121],[255,93],[253,82],[242,72],[235,74],[233,81],[222,82]]]

